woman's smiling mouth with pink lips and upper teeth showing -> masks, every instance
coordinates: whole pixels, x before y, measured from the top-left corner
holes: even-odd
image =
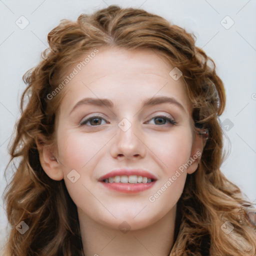
[[[113,170],[99,178],[99,182],[108,189],[124,193],[137,193],[150,188],[157,178],[142,169]]]

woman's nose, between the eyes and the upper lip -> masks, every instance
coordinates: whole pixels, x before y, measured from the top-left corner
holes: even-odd
[[[130,127],[126,130],[125,125]],[[125,123],[125,125],[117,127],[117,134],[111,144],[111,156],[118,159],[145,157],[146,145],[141,130],[136,127],[135,123]]]

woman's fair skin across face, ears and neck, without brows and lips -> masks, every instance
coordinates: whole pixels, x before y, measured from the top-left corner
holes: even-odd
[[[64,88],[57,115],[57,150],[43,147],[40,162],[49,177],[64,178],[77,206],[85,255],[166,256],[170,252],[176,203],[186,175],[196,170],[200,156],[158,198],[153,202],[148,198],[203,148],[202,138],[193,136],[183,79],[172,79],[172,68],[150,49],[101,48]],[[174,97],[184,109],[169,103],[142,108],[141,102],[152,96]],[[70,113],[84,97],[108,98],[114,107],[80,104]],[[99,124],[94,119],[80,125],[97,114],[103,117],[96,120]],[[162,114],[176,124],[166,119],[157,122],[154,117]],[[126,131],[118,127],[123,118],[131,123]],[[146,169],[157,181],[134,194],[98,182],[100,176],[121,167]],[[72,169],[80,175],[74,183],[67,178]],[[126,233],[119,229],[123,221],[130,228]]]

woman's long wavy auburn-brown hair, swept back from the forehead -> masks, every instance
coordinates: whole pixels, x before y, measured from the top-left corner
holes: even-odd
[[[7,165],[19,159],[4,194],[11,226],[4,255],[82,255],[76,205],[63,179],[53,180],[42,169],[36,142],[55,143],[55,117],[65,89],[51,99],[47,95],[56,91],[66,70],[85,54],[110,46],[149,48],[177,67],[192,103],[194,127],[208,129],[198,167],[187,175],[179,200],[182,219],[170,255],[203,255],[204,243],[212,255],[255,255],[255,227],[243,217],[242,205],[249,202],[219,169],[224,159],[218,120],[225,107],[224,86],[213,60],[195,46],[194,35],[142,9],[110,5],[81,14],[77,21],[62,19],[47,39],[49,48],[39,64],[23,75],[28,86]],[[29,226],[22,235],[15,228],[20,221]],[[220,228],[225,221],[234,227],[229,234]]]

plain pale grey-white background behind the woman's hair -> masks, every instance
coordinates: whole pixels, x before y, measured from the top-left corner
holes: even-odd
[[[60,19],[76,20],[82,12],[91,13],[114,3],[140,6],[186,28],[197,37],[196,45],[213,58],[227,97],[220,121],[223,127],[226,118],[233,123],[224,131],[225,148],[230,153],[221,169],[254,201],[256,0],[0,0],[0,194],[6,184],[3,171],[9,159],[7,146],[25,88],[23,73],[38,63],[40,53],[48,47],[47,33]],[[17,20],[25,24],[21,15],[29,21],[24,29],[15,23]],[[6,223],[1,199],[0,240],[4,238]]]

